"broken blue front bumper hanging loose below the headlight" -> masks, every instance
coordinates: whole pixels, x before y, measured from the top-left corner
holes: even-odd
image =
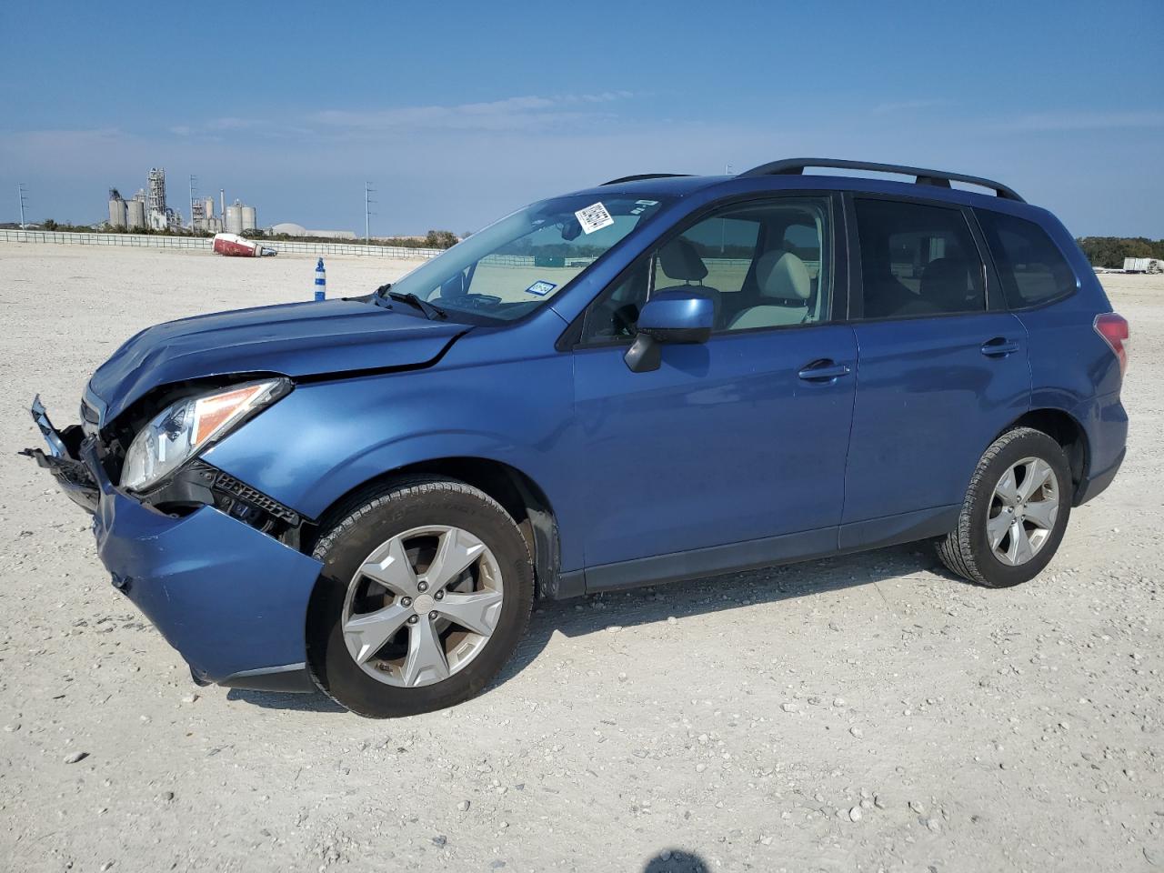
[[[190,663],[196,681],[310,691],[307,602],[319,561],[214,506],[169,514],[109,481],[98,438],[33,418],[48,452],[26,449],[65,494],[93,513],[97,551],[113,584]]]

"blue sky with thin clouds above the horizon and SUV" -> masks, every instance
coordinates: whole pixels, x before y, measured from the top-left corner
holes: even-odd
[[[152,165],[261,225],[480,228],[633,172],[853,157],[1164,236],[1164,3],[0,5],[0,221]]]

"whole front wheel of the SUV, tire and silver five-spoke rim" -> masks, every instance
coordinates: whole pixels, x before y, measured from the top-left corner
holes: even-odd
[[[319,687],[362,716],[442,709],[512,655],[533,603],[525,539],[462,482],[413,478],[369,496],[319,539],[307,616]]]

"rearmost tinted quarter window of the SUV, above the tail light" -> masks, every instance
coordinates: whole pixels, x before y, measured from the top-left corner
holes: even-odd
[[[1010,308],[1037,306],[1076,290],[1074,272],[1042,227],[1000,212],[977,214]]]

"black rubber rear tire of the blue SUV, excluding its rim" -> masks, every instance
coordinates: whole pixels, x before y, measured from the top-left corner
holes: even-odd
[[[1035,556],[1018,566],[1007,565],[989,547],[986,524],[994,488],[1013,464],[1038,457],[1051,466],[1058,480],[1058,514],[1045,542]],[[1010,588],[1037,576],[1050,563],[1063,541],[1071,517],[1071,468],[1063,448],[1042,431],[1016,427],[996,439],[974,470],[958,527],[938,541],[938,559],[952,573],[987,588]]]

